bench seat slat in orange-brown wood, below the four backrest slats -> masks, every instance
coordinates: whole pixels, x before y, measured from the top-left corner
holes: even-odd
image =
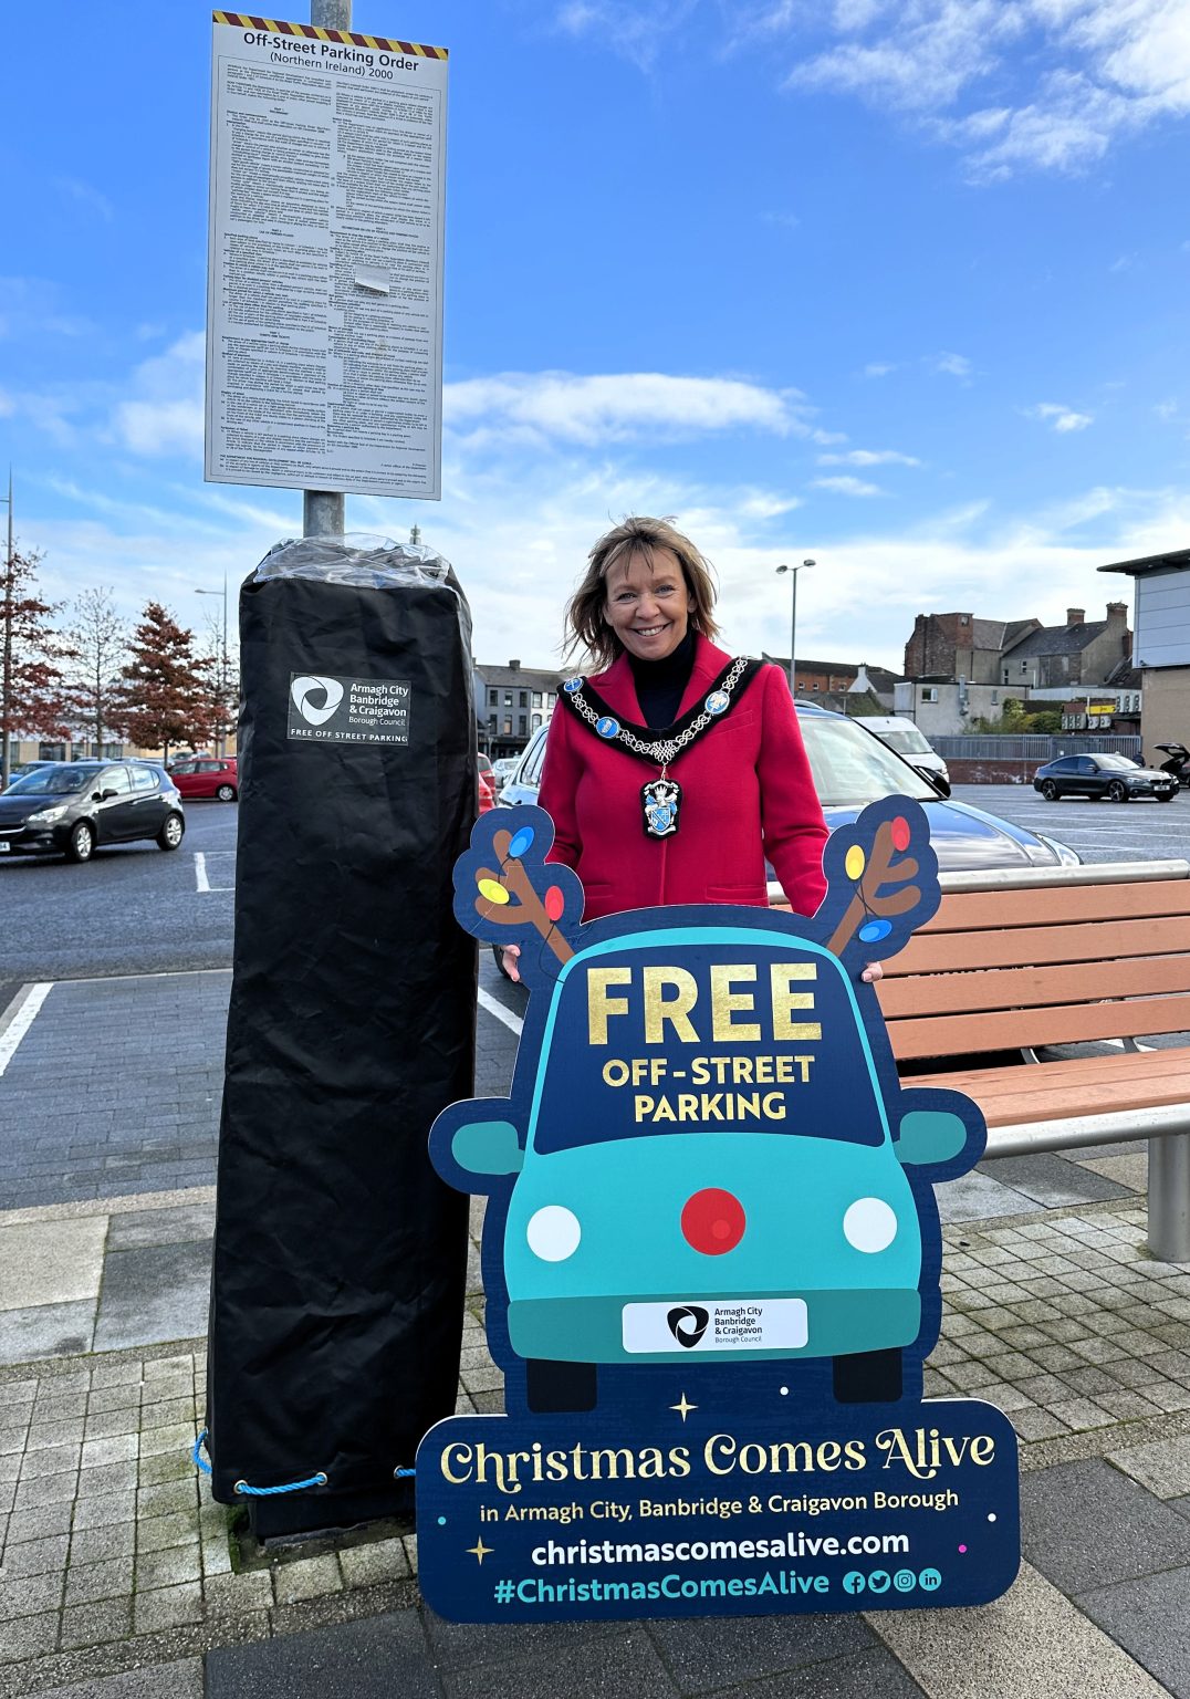
[[[905,1084],[944,1086],[974,1098],[988,1126],[1069,1120],[1086,1113],[1154,1109],[1185,1103],[1190,1050],[1078,1057],[1037,1067],[968,1069]]]

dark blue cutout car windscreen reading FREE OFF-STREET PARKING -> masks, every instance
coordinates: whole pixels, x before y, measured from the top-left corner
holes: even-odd
[[[796,941],[626,948],[555,996],[538,1154],[657,1133],[884,1142],[842,970]]]

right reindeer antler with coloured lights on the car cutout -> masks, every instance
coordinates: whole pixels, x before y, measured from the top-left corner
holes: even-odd
[[[834,834],[825,860],[827,900],[839,904],[837,892],[840,887],[844,892],[842,912],[827,941],[839,957],[850,948],[862,950],[867,960],[895,955],[937,909],[929,821],[908,797],[864,809],[852,827]]]

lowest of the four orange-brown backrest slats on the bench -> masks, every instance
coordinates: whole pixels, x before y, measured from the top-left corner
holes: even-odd
[[[1187,1031],[1190,997],[1136,997],[1131,1002],[1080,1002],[1061,1009],[1007,1009],[888,1023],[893,1055],[900,1060]]]

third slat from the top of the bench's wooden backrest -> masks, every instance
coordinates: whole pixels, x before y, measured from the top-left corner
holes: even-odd
[[[879,1006],[886,1021],[896,1021],[913,1014],[1034,1009],[1071,1002],[1102,1002],[1105,997],[1114,1001],[1154,997],[1163,992],[1190,992],[1190,955],[1080,962],[1075,967],[998,967],[974,974],[922,974],[917,979],[890,979],[879,985]]]

